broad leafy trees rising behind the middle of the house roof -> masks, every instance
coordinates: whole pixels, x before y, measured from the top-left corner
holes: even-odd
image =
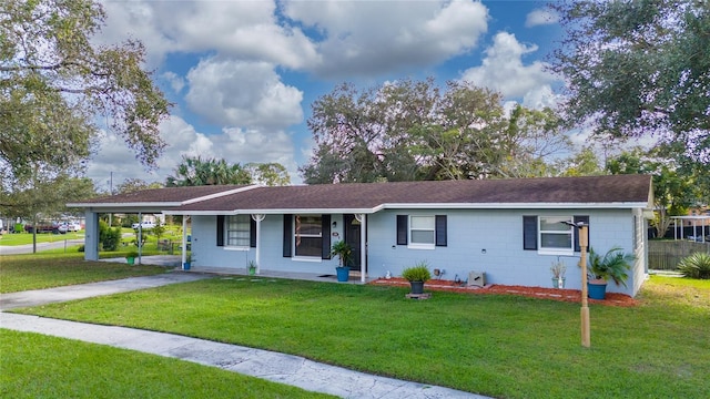
[[[433,79],[403,80],[364,91],[341,84],[312,105],[316,150],[300,172],[308,184],[538,173],[516,162],[552,153],[532,143],[559,140],[556,116],[518,108],[510,121],[501,100],[469,82],[440,89]]]

